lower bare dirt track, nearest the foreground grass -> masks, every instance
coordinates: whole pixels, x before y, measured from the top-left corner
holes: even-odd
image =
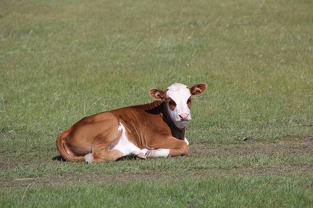
[[[206,176],[302,176],[313,172],[313,166],[273,166],[273,167],[238,167],[238,168],[209,168],[202,171],[184,172],[178,175],[168,175],[165,173],[118,173],[118,174],[96,174],[85,173],[80,175],[62,174],[50,175],[44,178],[18,178],[14,181],[6,181],[4,187],[17,188],[31,185],[40,186],[63,186],[67,184],[77,184],[86,182],[95,183],[116,183],[131,181],[170,181],[179,180],[186,177],[206,177]]]

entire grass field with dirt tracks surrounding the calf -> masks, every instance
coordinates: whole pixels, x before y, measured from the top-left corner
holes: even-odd
[[[0,207],[313,207],[312,1],[0,1]],[[83,116],[206,82],[190,156],[56,160]]]

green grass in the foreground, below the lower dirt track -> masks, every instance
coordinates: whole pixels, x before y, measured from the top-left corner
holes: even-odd
[[[10,190],[2,207],[311,207],[312,178],[212,177]],[[25,195],[24,195],[25,194]]]

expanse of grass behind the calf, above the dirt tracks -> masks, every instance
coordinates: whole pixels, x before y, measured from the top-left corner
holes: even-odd
[[[83,116],[151,102],[151,87],[206,82],[191,142],[311,134],[312,15],[283,2],[4,1],[2,132],[52,145]]]

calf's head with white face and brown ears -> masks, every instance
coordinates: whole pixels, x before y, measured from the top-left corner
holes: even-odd
[[[191,120],[190,108],[192,97],[201,95],[206,88],[207,85],[204,83],[196,84],[191,88],[180,83],[175,83],[167,87],[165,91],[152,88],[149,92],[155,100],[166,102],[167,112],[171,120],[179,129],[182,129]]]

